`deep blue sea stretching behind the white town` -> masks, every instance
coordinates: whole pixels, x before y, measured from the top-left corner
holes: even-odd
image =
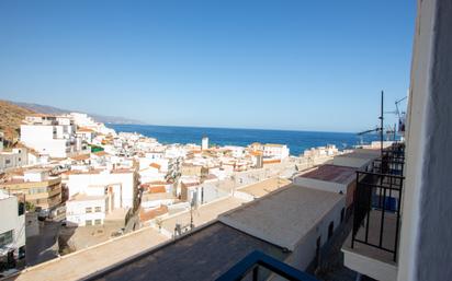
[[[155,125],[117,125],[108,124],[116,132],[138,132],[145,137],[156,138],[160,143],[197,143],[208,137],[213,145],[247,147],[252,142],[281,143],[290,148],[291,155],[298,156],[305,150],[327,144],[335,144],[339,150],[350,149],[361,143],[380,140],[380,134],[370,133],[362,138],[352,132],[291,131],[263,129],[227,129],[203,127],[177,127]]]

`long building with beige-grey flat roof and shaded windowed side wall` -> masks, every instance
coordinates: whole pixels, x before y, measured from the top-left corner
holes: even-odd
[[[248,235],[287,249],[284,262],[305,270],[342,223],[343,196],[289,185],[221,214],[218,220]],[[279,280],[272,279],[269,280]]]

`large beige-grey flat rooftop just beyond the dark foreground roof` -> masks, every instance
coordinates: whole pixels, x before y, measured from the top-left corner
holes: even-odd
[[[252,236],[293,250],[343,196],[289,185],[218,220]]]

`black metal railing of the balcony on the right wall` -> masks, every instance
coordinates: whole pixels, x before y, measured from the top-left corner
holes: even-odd
[[[385,150],[371,172],[357,172],[351,247],[355,243],[389,251],[397,259],[404,183],[403,148]]]

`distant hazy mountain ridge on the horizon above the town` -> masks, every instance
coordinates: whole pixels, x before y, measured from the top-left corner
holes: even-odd
[[[58,107],[54,106],[48,106],[48,105],[41,105],[41,104],[33,104],[33,103],[22,103],[22,102],[10,102],[12,104],[15,104],[20,107],[33,110],[35,113],[41,113],[41,114],[53,114],[53,115],[58,115],[58,114],[69,114],[69,113],[83,113],[79,110],[68,110],[68,109],[61,109]],[[97,115],[97,114],[90,114],[86,113],[94,120],[99,122],[104,122],[104,124],[134,124],[134,125],[145,125],[146,122],[139,121],[139,120],[134,120],[134,119],[128,119],[124,117],[118,117],[118,116],[104,116],[104,115]]]

